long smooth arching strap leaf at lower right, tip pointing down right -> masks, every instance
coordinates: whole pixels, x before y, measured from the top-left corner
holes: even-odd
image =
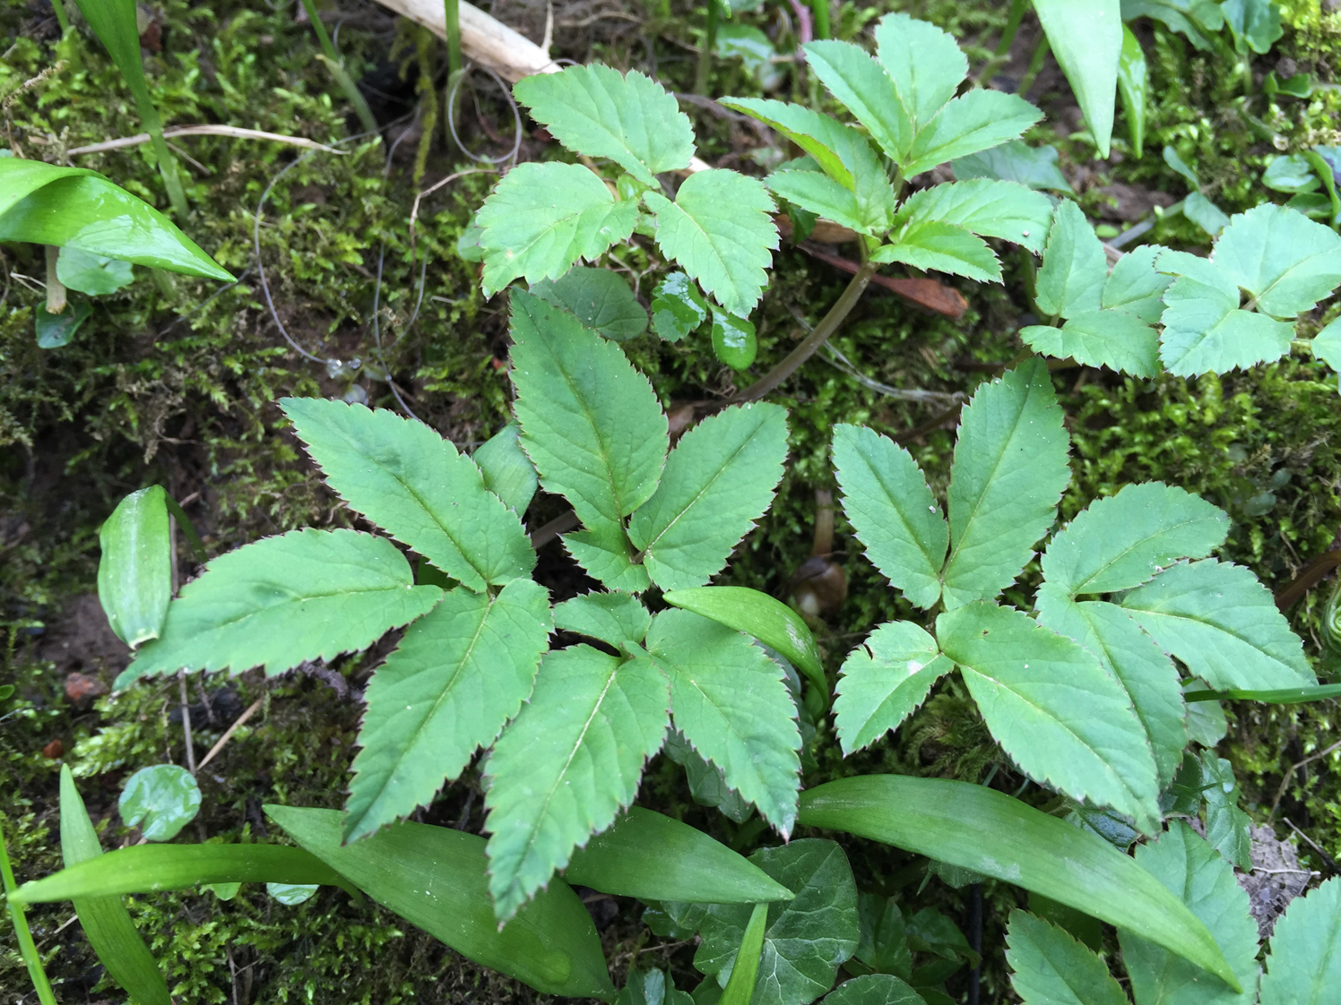
[[[907,775],[830,781],[799,823],[846,831],[1033,890],[1232,977],[1207,927],[1102,838],[984,785]]]

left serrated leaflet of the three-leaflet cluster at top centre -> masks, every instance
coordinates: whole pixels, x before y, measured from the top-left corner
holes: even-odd
[[[578,259],[590,261],[626,240],[638,204],[617,202],[579,163],[531,161],[503,176],[475,221],[483,228],[484,295],[493,296],[518,276],[558,279]]]

